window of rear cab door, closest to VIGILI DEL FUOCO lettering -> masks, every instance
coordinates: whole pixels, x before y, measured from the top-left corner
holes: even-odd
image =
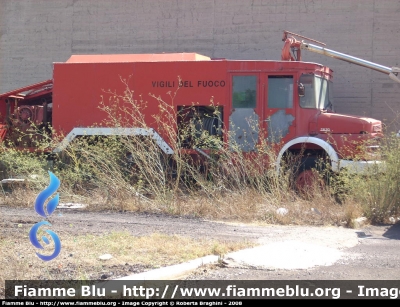
[[[233,76],[232,107],[255,108],[257,76]]]

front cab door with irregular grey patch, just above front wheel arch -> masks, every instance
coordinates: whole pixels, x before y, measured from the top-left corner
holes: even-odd
[[[263,128],[268,143],[287,142],[295,135],[294,76],[266,74]]]

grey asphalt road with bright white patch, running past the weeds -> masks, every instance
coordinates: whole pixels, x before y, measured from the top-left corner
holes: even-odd
[[[248,225],[156,214],[57,209],[57,231],[76,234],[127,230],[141,236],[176,234],[226,241],[248,240],[261,247],[224,255],[224,263],[201,267],[188,279],[398,280],[400,224],[362,229]],[[0,206],[0,237],[34,224],[32,209]],[[71,228],[69,225],[73,224]]]

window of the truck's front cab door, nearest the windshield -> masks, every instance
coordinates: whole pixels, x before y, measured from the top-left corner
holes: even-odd
[[[268,76],[268,107],[293,107],[293,76]]]

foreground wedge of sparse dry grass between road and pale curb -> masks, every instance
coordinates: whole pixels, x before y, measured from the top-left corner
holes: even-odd
[[[64,232],[59,234],[62,254],[44,262],[35,255],[36,250],[28,240],[29,229],[20,226],[12,236],[0,237],[0,285],[3,286],[5,280],[18,279],[113,279],[210,254],[222,256],[252,246],[246,241],[223,242],[159,233],[135,237],[126,231],[82,236]],[[47,248],[51,250],[52,246]],[[113,258],[100,260],[103,254],[111,254]],[[3,286],[0,286],[0,294]]]

